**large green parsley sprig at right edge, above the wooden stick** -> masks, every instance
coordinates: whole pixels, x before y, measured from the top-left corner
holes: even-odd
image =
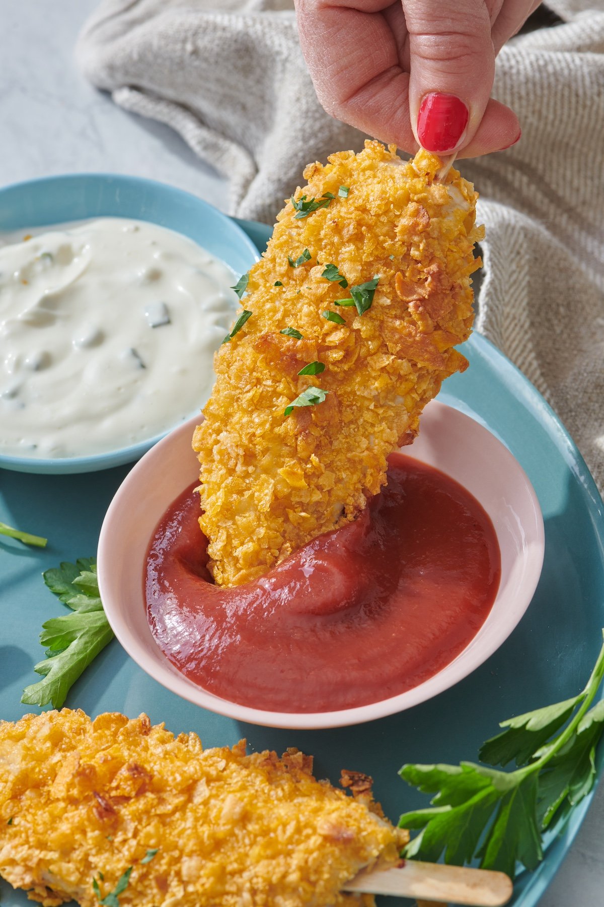
[[[400,775],[435,794],[431,808],[401,815],[399,824],[421,829],[405,855],[446,863],[480,861],[483,869],[514,875],[517,863],[535,869],[542,860],[542,832],[590,793],[595,753],[604,729],[604,700],[590,708],[604,677],[604,647],[579,696],[503,721],[480,758],[459,766],[407,765]]]

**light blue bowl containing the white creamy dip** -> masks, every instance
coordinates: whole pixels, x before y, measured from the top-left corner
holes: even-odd
[[[44,227],[98,217],[149,220],[194,239],[237,277],[258,260],[251,239],[206,201],[154,180],[110,173],[78,173],[0,189],[0,231]],[[0,454],[0,466],[20,473],[91,473],[138,460],[164,434],[110,453],[53,459]]]

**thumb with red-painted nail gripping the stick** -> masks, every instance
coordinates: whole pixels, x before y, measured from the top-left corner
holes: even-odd
[[[451,153],[472,140],[494,80],[483,0],[402,0],[410,60],[409,113],[417,142]]]

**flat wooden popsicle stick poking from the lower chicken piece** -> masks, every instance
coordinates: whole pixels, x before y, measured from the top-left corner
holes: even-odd
[[[398,894],[399,897],[471,907],[502,907],[512,897],[513,884],[505,873],[407,860],[400,869],[358,873],[343,890]]]

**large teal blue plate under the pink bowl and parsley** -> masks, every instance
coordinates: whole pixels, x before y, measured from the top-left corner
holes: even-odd
[[[264,248],[269,229],[242,225]],[[314,754],[317,774],[333,782],[341,768],[372,775],[378,799],[396,821],[403,811],[427,805],[426,797],[398,778],[404,762],[474,760],[499,720],[578,693],[604,627],[604,505],[569,435],[526,378],[482,336],[472,336],[464,352],[471,367],[450,378],[440,398],[474,415],[508,445],[531,479],[545,521],[545,562],[532,604],[481,668],[400,715],[329,731],[283,731],[243,725],[179,699],[112,642],[72,688],[66,704],[92,716],[144,711],[170,730],[197,731],[205,746],[230,746],[243,736],[254,749],[281,753],[298,746]],[[0,473],[0,520],[50,540],[41,551],[0,537],[0,717],[14,720],[27,710],[19,699],[43,657],[40,627],[63,608],[44,588],[40,573],[96,551],[105,510],[127,471],[122,466],[91,475]],[[601,756],[600,751],[599,769]],[[553,837],[537,871],[519,876],[517,907],[539,901],[589,805],[587,797]],[[3,907],[29,903],[5,883],[0,892]]]

